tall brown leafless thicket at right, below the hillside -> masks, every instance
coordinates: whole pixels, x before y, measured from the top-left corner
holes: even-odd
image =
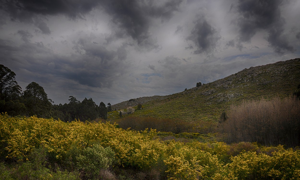
[[[300,101],[296,97],[283,100],[243,102],[231,106],[228,119],[220,124],[231,142],[257,142],[265,145],[300,145]]]

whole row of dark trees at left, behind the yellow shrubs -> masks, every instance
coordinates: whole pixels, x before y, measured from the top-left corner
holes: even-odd
[[[10,116],[37,116],[41,118],[60,119],[70,122],[75,119],[95,120],[97,118],[107,119],[107,112],[111,110],[111,104],[101,102],[97,105],[91,98],[78,101],[69,96],[69,103],[64,105],[52,105],[53,101],[48,99],[44,88],[36,82],[22,88],[18,85],[16,74],[9,68],[0,64],[0,112]]]

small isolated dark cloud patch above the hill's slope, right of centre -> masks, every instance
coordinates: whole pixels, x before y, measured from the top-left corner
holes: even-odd
[[[204,16],[197,16],[197,20],[194,21],[193,30],[186,40],[193,41],[196,46],[194,54],[211,53],[214,51],[217,41],[220,39],[220,35],[216,29],[211,26]],[[192,49],[193,46],[189,46],[186,49]]]

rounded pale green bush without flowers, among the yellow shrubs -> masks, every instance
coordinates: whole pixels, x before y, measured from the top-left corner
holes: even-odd
[[[95,177],[101,169],[107,169],[114,161],[115,153],[110,147],[103,148],[98,144],[82,150],[76,156],[78,169],[83,170],[86,176]]]

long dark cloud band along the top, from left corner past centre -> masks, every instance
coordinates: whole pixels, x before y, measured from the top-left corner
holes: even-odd
[[[139,46],[148,49],[159,49],[157,41],[151,37],[149,28],[152,18],[161,21],[169,20],[174,12],[179,11],[183,0],[167,1],[139,1],[139,0],[54,0],[54,1],[25,1],[25,0],[0,0],[1,9],[6,11],[12,20],[34,23],[43,34],[50,34],[50,29],[43,21],[35,21],[38,15],[54,16],[65,15],[70,19],[84,18],[85,14],[94,8],[101,8],[112,17],[116,26],[112,36],[107,37],[107,42],[114,38],[132,37]]]

